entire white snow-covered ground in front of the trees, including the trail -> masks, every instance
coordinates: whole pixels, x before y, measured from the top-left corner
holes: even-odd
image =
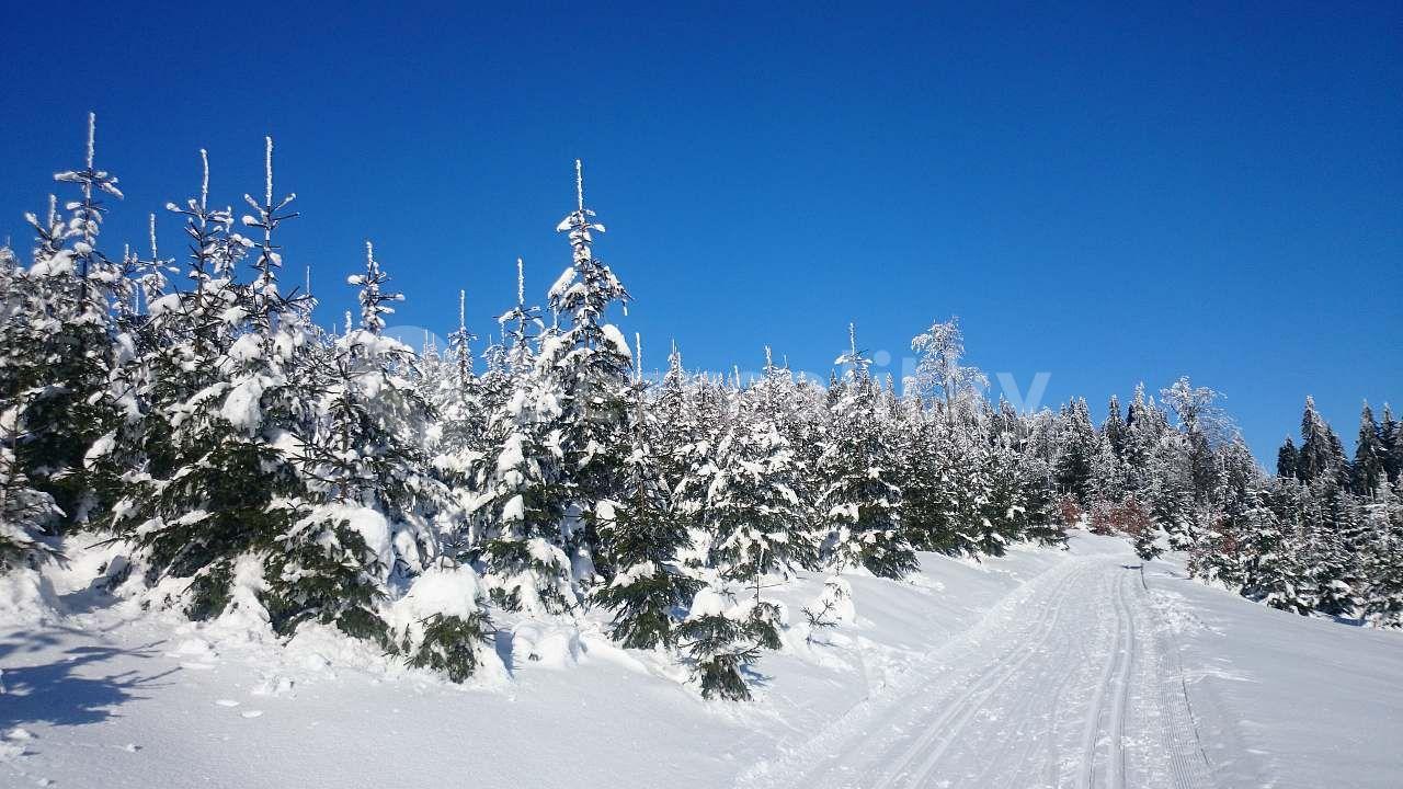
[[[0,606],[0,785],[1403,785],[1403,636],[1142,574],[1110,538],[850,577],[856,622],[812,640],[822,576],[791,584],[739,705],[589,625],[504,632],[457,687],[317,629],[114,602],[98,562],[51,571],[42,623]]]

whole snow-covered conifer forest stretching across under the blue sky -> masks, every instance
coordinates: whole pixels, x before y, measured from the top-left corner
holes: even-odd
[[[499,341],[460,313],[445,347],[414,348],[383,333],[412,293],[394,291],[396,260],[372,243],[347,261],[359,314],[316,309],[302,250],[279,232],[318,206],[276,178],[271,139],[262,184],[222,184],[192,159],[140,244],[102,233],[108,212],[146,206],[121,202],[97,143],[90,119],[86,159],[25,218],[32,241],[0,248],[0,614],[20,628],[0,651],[0,709],[24,695],[11,658],[38,649],[25,632],[108,611],[196,665],[230,640],[314,643],[397,667],[418,688],[405,694],[504,692],[532,665],[609,654],[699,720],[748,720],[794,656],[866,654],[868,684],[899,688],[898,650],[871,646],[887,643],[873,622],[960,604],[943,591],[965,588],[960,573],[1033,578],[1069,541],[1124,545],[1124,564],[1202,584],[1172,587],[1180,597],[1226,590],[1326,628],[1403,628],[1403,431],[1388,406],[1364,407],[1347,456],[1305,397],[1299,439],[1263,469],[1216,393],[1188,378],[1135,386],[1100,424],[1080,399],[1037,413],[993,402],[954,319],[912,327],[920,364],[905,382],[874,373],[843,316],[847,351],[828,380],[793,373],[777,350],[744,378],[690,369],[673,347],[654,375],[616,309],[629,271],[605,263],[607,206],[589,204],[578,163],[574,181],[563,167],[542,184],[564,209],[553,285],[502,295]],[[540,219],[549,232],[554,218]],[[187,243],[159,248],[157,222]],[[985,599],[993,585],[969,588]],[[269,698],[292,687],[265,679]],[[22,754],[31,734],[15,731],[6,747]],[[832,752],[842,741],[842,727],[825,740]],[[1068,775],[1135,785],[1103,747],[1120,745],[1092,741]],[[822,764],[810,748],[731,775],[780,785]],[[890,775],[871,785],[915,785],[951,752],[932,748],[874,762]],[[1166,765],[1145,775],[1207,785]],[[979,775],[971,785],[995,785]]]

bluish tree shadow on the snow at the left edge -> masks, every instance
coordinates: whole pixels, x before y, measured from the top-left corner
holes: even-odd
[[[0,660],[15,654],[38,651],[52,646],[58,639],[52,635],[25,636],[24,640],[0,642]],[[112,646],[76,646],[63,653],[59,660],[38,665],[13,665],[0,663],[0,731],[25,724],[84,726],[109,717],[118,717],[116,708],[145,696],[143,688],[159,688],[159,681],[177,671],[170,668],[159,674],[142,674],[135,668],[102,672],[102,664],[115,658],[149,658],[156,654],[152,642],[133,649]]]

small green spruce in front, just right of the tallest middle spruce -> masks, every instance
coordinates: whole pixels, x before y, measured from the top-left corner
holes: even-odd
[[[680,564],[690,543],[686,518],[672,507],[657,453],[648,442],[645,385],[634,382],[634,424],[617,501],[599,515],[600,539],[617,573],[595,590],[595,604],[613,611],[610,636],[624,647],[676,644],[678,615],[700,591],[702,581]]]

